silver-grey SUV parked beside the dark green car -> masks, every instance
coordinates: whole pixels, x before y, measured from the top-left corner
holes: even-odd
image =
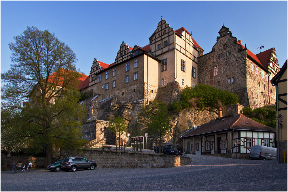
[[[61,169],[64,171],[76,171],[77,169],[95,169],[97,166],[96,162],[88,161],[83,157],[68,157],[61,163]]]

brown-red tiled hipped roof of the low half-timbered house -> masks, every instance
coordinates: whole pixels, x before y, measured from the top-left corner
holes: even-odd
[[[191,130],[184,137],[191,137],[195,135],[202,135],[207,133],[219,132],[224,130],[256,130],[256,131],[269,131],[273,132],[276,130],[265,126],[261,123],[258,123],[243,114],[230,115],[222,118],[217,118],[215,120],[211,120],[206,124],[198,126],[197,128]]]

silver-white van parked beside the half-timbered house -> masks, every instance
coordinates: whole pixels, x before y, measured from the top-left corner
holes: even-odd
[[[249,159],[277,160],[277,149],[263,145],[254,145],[251,147]]]

